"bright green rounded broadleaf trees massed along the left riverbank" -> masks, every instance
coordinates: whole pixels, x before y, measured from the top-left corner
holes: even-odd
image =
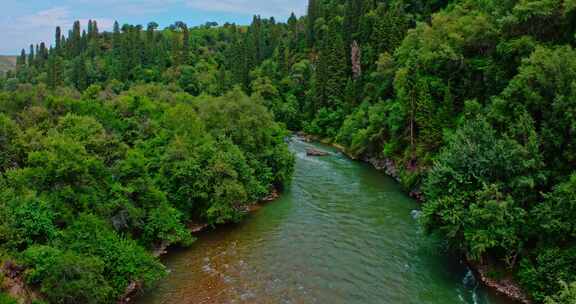
[[[286,131],[260,103],[162,85],[1,93],[5,260],[50,303],[110,303],[155,282],[154,248],[190,244],[190,222],[240,220],[290,178]]]

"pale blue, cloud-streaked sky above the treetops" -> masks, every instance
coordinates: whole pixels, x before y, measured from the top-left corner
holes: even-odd
[[[300,16],[307,0],[1,0],[0,55],[16,55],[31,43],[53,43],[56,26],[67,33],[74,20],[111,30],[120,24],[155,21],[168,26],[184,21],[189,26],[208,21],[249,24],[255,14],[284,21],[291,12]]]

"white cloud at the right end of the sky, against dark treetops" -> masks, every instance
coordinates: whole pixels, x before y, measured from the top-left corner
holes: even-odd
[[[305,0],[187,0],[189,7],[209,11],[240,14],[260,14],[263,16],[288,16],[294,12],[304,13]]]

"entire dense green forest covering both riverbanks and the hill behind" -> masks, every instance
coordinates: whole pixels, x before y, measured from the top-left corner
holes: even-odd
[[[386,160],[426,231],[536,303],[576,302],[575,0],[81,28],[0,78],[0,259],[43,300],[152,284],[153,248],[290,179],[292,130]]]

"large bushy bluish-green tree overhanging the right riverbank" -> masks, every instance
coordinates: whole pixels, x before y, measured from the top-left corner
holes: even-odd
[[[525,180],[538,168],[533,157],[538,155],[517,142],[498,138],[486,121],[467,123],[428,174],[425,226],[448,231],[448,238],[475,260],[500,252],[517,255],[527,237],[525,191],[534,186]]]

